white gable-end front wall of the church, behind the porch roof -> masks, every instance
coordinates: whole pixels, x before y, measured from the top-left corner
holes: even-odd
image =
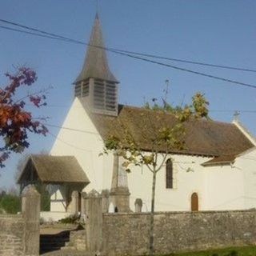
[[[74,130],[61,129],[50,154],[74,155],[78,159],[90,180],[86,192],[109,188],[111,156],[99,156],[104,146],[102,138],[78,98],[74,99],[62,126]]]

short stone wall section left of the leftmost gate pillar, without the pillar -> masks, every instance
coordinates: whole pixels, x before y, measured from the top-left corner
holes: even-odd
[[[0,215],[0,255],[22,256],[25,221],[22,215]]]

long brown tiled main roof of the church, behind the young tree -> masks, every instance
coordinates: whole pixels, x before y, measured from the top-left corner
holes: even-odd
[[[117,117],[93,114],[92,120],[103,139],[110,134],[123,138],[124,129],[127,129],[143,150],[151,148],[152,130],[175,123],[173,114],[134,106],[119,106]],[[184,126],[185,149],[169,150],[170,153],[234,156],[254,146],[232,123],[191,118]],[[164,152],[166,148],[162,145],[158,150]]]

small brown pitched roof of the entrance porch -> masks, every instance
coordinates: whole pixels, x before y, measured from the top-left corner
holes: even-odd
[[[32,174],[34,172],[34,174]],[[48,183],[90,183],[78,160],[74,156],[51,156],[46,154],[32,154],[26,162],[18,183],[33,179]],[[34,180],[32,180],[34,181]]]

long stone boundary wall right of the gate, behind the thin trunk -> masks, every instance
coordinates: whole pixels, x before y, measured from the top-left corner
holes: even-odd
[[[103,254],[148,254],[150,214],[103,214],[102,218]],[[156,254],[255,243],[256,210],[154,215]]]

